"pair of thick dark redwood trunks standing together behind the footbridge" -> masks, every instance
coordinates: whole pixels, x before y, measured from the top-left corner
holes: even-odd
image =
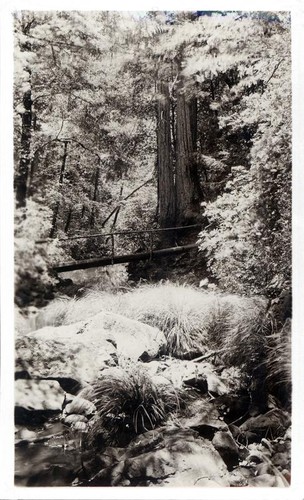
[[[179,69],[176,106],[167,83],[158,89],[158,214],[161,227],[191,224],[199,218],[201,190],[195,160],[197,101],[188,96]],[[171,113],[170,113],[171,111]],[[171,125],[173,132],[171,133]],[[176,140],[173,140],[173,135]],[[174,158],[173,158],[174,151]]]

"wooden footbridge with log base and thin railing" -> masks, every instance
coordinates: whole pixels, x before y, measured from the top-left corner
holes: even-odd
[[[72,236],[68,238],[59,238],[59,241],[62,243],[73,243],[77,240],[83,239],[95,239],[96,242],[100,242],[102,247],[102,255],[97,257],[88,258],[85,260],[75,260],[72,262],[67,262],[63,264],[58,264],[54,266],[53,270],[57,273],[64,273],[67,271],[76,271],[78,269],[89,269],[94,267],[103,267],[114,264],[123,264],[128,262],[136,262],[140,260],[152,260],[160,257],[164,257],[167,255],[176,255],[188,252],[194,248],[197,248],[197,234],[201,229],[201,225],[193,224],[189,226],[177,226],[177,227],[166,227],[161,229],[141,229],[138,231],[118,231],[111,233],[97,233],[90,235],[79,235]],[[165,233],[165,237],[162,238],[163,241],[170,241],[171,246],[167,246],[165,248],[159,248],[159,238],[158,242],[156,242],[156,235]],[[193,239],[195,240],[193,243],[187,244],[179,244],[178,240],[183,236],[187,235],[187,239],[189,239],[189,235],[193,234]],[[135,253],[124,253],[123,248],[127,244],[128,238],[136,239],[138,236],[145,235],[146,238],[141,239],[141,248],[140,251]],[[148,237],[148,238],[147,238]],[[117,239],[119,239],[119,248],[117,247]],[[143,242],[144,240],[144,242]],[[36,243],[47,243],[48,240],[39,240]],[[157,244],[158,243],[158,244]],[[172,246],[174,244],[174,246]]]

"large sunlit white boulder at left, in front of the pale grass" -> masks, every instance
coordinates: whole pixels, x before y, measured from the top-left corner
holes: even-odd
[[[138,360],[157,356],[164,334],[114,313],[101,312],[71,325],[47,326],[16,340],[16,371],[25,378],[66,379],[82,385],[98,379],[104,368],[115,366],[117,357]],[[68,384],[64,387],[75,393]],[[78,388],[79,389],[79,388]]]

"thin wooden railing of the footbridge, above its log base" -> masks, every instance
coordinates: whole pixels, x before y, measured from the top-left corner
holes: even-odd
[[[68,236],[63,238],[57,238],[57,240],[65,245],[74,246],[77,249],[75,243],[81,240],[95,240],[95,244],[92,247],[97,247],[101,245],[99,255],[110,257],[114,263],[115,257],[121,255],[121,252],[132,254],[133,252],[148,251],[150,253],[150,259],[152,260],[153,250],[155,245],[158,243],[156,236],[162,233],[172,234],[177,237],[180,236],[181,232],[201,228],[199,224],[191,224],[188,226],[175,226],[175,227],[165,227],[157,229],[138,229],[138,230],[126,230],[126,231],[113,231],[109,233],[93,233],[93,234],[79,234],[74,236]],[[173,239],[173,237],[172,237]],[[37,244],[48,243],[53,241],[54,238],[46,238],[42,240],[37,240]],[[178,245],[175,241],[175,245]],[[81,245],[79,245],[81,246]],[[158,246],[158,248],[160,248]],[[94,249],[93,249],[94,250]],[[93,251],[92,250],[92,251]],[[97,250],[93,251],[93,255],[97,254]],[[76,250],[77,253],[77,250]],[[91,253],[91,252],[90,252]],[[73,252],[75,257],[75,252]],[[86,255],[88,257],[88,255]],[[91,256],[90,256],[91,257]],[[79,257],[80,259],[83,256]],[[78,258],[76,257],[76,260]]]

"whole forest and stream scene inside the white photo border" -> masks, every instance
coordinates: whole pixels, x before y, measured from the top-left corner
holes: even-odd
[[[14,44],[16,484],[289,486],[290,14]]]

